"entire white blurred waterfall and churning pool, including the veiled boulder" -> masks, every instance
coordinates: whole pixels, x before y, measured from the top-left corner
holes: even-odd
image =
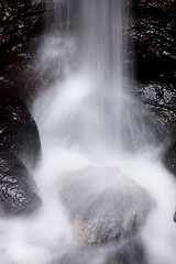
[[[47,34],[40,48],[48,87],[33,110],[43,148],[34,179],[43,206],[0,220],[0,263],[175,264],[176,186],[131,96],[127,8],[75,4],[78,25]],[[129,234],[131,221],[140,228]]]

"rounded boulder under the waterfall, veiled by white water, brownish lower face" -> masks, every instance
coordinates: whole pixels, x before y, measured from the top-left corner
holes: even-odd
[[[79,243],[54,264],[145,264],[140,230],[154,206],[147,191],[117,167],[88,167],[68,176],[59,193]]]

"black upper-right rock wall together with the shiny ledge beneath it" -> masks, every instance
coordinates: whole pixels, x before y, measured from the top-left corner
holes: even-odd
[[[148,105],[176,109],[176,2],[138,0],[133,2],[133,41],[136,52],[139,88]]]

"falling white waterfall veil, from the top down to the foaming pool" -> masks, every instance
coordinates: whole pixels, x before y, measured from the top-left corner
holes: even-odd
[[[148,142],[150,130],[131,96],[135,81],[128,64],[127,7],[117,0],[78,3],[75,32],[46,37],[42,46],[40,68],[55,82],[50,89],[57,89],[44,134],[57,133],[53,139],[97,156],[139,150]],[[72,1],[68,7],[73,9]],[[69,15],[66,20],[72,23]]]

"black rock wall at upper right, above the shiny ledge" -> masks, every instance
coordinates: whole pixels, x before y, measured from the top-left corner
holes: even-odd
[[[133,1],[133,40],[142,80],[175,80],[175,9],[172,0]]]

